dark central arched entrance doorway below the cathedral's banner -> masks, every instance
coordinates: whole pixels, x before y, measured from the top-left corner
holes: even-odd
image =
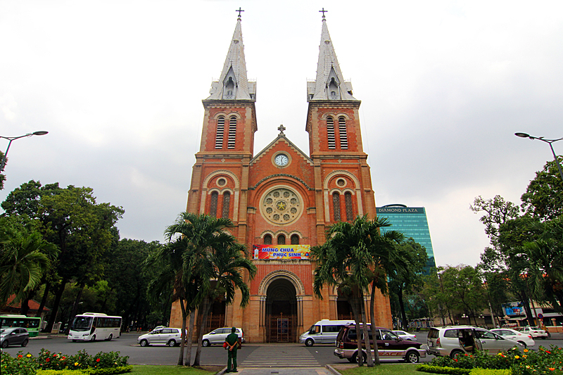
[[[297,326],[295,286],[284,277],[272,280],[266,291],[266,342],[296,343]]]

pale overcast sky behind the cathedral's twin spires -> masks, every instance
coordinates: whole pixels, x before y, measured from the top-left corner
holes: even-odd
[[[437,265],[476,265],[476,196],[520,203],[563,136],[561,1],[0,0],[0,201],[30,179],[120,205],[122,238],[163,241],[186,208],[203,106],[241,6],[255,152],[277,127],[308,153],[321,13],[362,101],[377,205],[426,208]],[[8,141],[0,139],[0,150]],[[563,141],[555,144],[563,153]]]

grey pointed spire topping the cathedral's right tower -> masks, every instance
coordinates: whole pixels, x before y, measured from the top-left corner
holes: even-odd
[[[345,82],[336,52],[330,39],[329,27],[322,8],[322,32],[319,46],[319,61],[317,63],[317,79],[308,82],[308,100],[357,100],[352,96],[352,84]]]

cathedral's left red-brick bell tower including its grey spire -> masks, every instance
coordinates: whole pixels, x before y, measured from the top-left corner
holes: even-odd
[[[246,238],[248,165],[256,124],[256,82],[246,77],[241,11],[219,80],[203,100],[201,144],[191,177],[187,210],[228,217],[241,243]]]

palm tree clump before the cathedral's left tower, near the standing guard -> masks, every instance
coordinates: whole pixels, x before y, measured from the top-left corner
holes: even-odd
[[[226,231],[232,227],[229,219],[182,212],[175,224],[165,231],[172,252],[181,254],[182,258],[182,267],[177,269],[175,279],[186,292],[185,311],[182,307],[183,324],[187,313],[194,311],[195,307],[202,317],[194,366],[200,362],[201,339],[213,300],[222,297],[229,305],[234,301],[237,288],[242,295],[241,307],[250,300],[243,272],[246,270],[248,278],[252,279],[256,267],[245,257],[244,246]]]

